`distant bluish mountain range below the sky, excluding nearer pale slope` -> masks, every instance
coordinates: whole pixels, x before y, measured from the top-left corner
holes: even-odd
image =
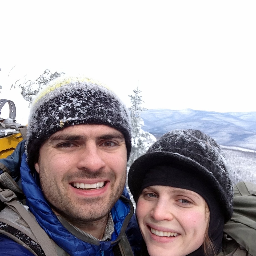
[[[256,150],[256,112],[149,109],[141,117],[145,125],[142,128],[156,138],[173,129],[197,129],[221,145]]]

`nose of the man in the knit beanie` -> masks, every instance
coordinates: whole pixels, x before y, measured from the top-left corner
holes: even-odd
[[[78,169],[88,169],[90,171],[98,171],[105,167],[105,161],[102,157],[102,152],[93,142],[89,142],[81,149],[78,156]]]

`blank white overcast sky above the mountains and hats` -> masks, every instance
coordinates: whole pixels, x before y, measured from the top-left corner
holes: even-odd
[[[0,98],[48,68],[97,79],[127,106],[139,81],[148,109],[256,111],[255,13],[235,0],[1,1]]]

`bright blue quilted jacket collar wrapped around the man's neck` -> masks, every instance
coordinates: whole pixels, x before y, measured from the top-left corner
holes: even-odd
[[[29,206],[30,211],[35,216],[39,225],[58,246],[71,256],[98,256],[102,255],[102,251],[104,251],[104,255],[112,255],[113,244],[122,237],[133,215],[133,206],[127,198],[121,197],[111,210],[115,226],[111,241],[92,244],[78,239],[59,222],[47,203],[40,185],[36,182],[27,165],[25,154],[23,154],[21,162],[21,180],[22,190],[27,198],[26,204]],[[123,191],[123,195],[128,195],[129,197],[126,189]]]

